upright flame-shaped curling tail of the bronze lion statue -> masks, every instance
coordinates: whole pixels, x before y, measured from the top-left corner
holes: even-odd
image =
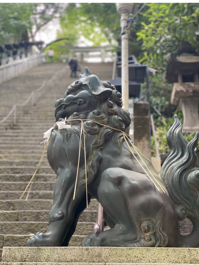
[[[179,221],[186,217],[192,221],[190,235],[181,236],[179,246],[198,247],[199,245],[199,168],[195,146],[199,133],[189,143],[182,135],[182,125],[175,115],[174,124],[167,134],[171,153],[162,165],[160,175],[164,180],[169,196],[175,204]]]

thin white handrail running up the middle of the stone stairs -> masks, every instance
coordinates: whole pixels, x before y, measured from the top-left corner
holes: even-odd
[[[57,71],[57,72],[56,72],[56,73],[55,73],[55,74],[54,74],[54,75],[53,75],[48,81],[44,81],[44,82],[42,83],[42,85],[39,86],[39,88],[33,90],[33,91],[30,93],[30,95],[29,95],[29,97],[27,98],[27,100],[24,101],[24,103],[22,103],[22,104],[15,104],[15,105],[12,107],[12,109],[9,111],[9,113],[7,114],[7,116],[6,116],[5,118],[3,118],[3,119],[0,121],[0,124],[3,123],[5,120],[7,120],[7,119],[9,118],[13,111],[14,111],[14,124],[16,124],[16,107],[22,107],[22,106],[25,106],[25,105],[29,102],[30,99],[31,99],[31,105],[33,106],[33,104],[34,104],[34,95],[35,95],[35,92],[39,92],[40,90],[42,90],[42,88],[46,85],[46,83],[50,83],[50,82],[52,82],[53,79],[54,79],[55,77],[57,77],[59,73],[65,71],[66,68],[67,68],[67,66],[63,67],[62,70]]]

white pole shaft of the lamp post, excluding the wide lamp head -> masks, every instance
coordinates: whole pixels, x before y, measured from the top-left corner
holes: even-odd
[[[128,12],[123,12],[121,14],[121,28],[122,31],[125,30],[128,19]],[[128,34],[122,35],[122,99],[123,108],[128,110]]]

